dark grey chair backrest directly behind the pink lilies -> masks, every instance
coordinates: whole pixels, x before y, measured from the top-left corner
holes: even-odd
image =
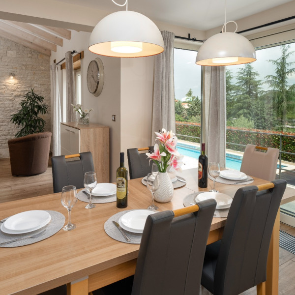
[[[140,150],[150,150],[153,152],[153,147],[140,148]],[[148,173],[151,172],[152,161],[149,162],[146,153],[139,153],[138,148],[128,148],[127,149],[127,158],[128,158],[128,167],[129,167],[129,177],[130,179],[145,177]],[[149,165],[150,164],[150,165]]]

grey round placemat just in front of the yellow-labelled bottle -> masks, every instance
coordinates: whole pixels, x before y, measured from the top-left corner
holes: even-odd
[[[110,236],[111,238],[113,238],[113,239],[115,239],[117,241],[128,243],[128,244],[140,244],[143,234],[136,234],[136,233],[131,233],[131,232],[123,230],[124,233],[131,239],[131,241],[128,242],[128,241],[126,241],[124,236],[121,234],[121,232],[118,230],[116,225],[113,223],[113,220],[118,222],[119,218],[121,216],[123,216],[125,213],[129,212],[129,211],[134,211],[134,210],[121,211],[121,212],[118,212],[117,214],[111,216],[105,222],[104,230],[105,230],[105,232],[107,233],[108,236]]]

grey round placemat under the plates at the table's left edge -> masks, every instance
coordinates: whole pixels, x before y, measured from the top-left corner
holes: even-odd
[[[52,211],[52,210],[45,210],[45,211],[47,211],[51,215],[51,220],[47,225],[43,226],[42,228],[40,228],[36,231],[29,232],[26,234],[10,235],[10,234],[5,234],[2,231],[0,231],[0,243],[9,241],[9,240],[12,240],[15,238],[23,237],[23,236],[24,237],[31,236],[31,235],[40,233],[45,229],[46,231],[43,233],[43,235],[38,236],[38,237],[34,237],[34,238],[24,238],[19,241],[15,241],[15,242],[12,242],[12,243],[9,243],[6,245],[2,245],[0,247],[12,248],[12,247],[25,246],[25,245],[39,242],[41,240],[44,240],[44,239],[56,234],[63,227],[65,217],[63,214],[61,214],[60,212],[57,212],[57,211]]]

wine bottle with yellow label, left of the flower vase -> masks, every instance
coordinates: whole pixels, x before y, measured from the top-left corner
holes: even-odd
[[[117,207],[127,207],[128,171],[124,167],[124,153],[120,152],[120,167],[117,169]]]

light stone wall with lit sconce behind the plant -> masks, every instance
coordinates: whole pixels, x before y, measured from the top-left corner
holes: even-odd
[[[14,73],[14,79],[9,74]],[[50,131],[50,57],[0,37],[0,158],[8,158],[7,141],[18,128],[10,122],[23,96],[31,89],[48,105],[45,131]]]

